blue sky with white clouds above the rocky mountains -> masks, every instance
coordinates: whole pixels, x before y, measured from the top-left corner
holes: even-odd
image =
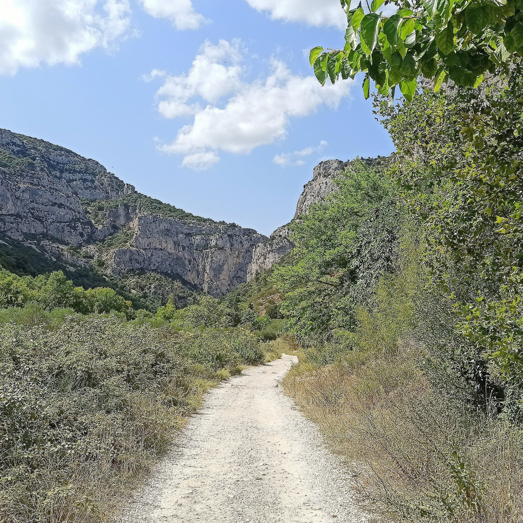
[[[314,166],[388,155],[362,78],[321,87],[339,0],[2,0],[0,127],[137,190],[270,234]]]

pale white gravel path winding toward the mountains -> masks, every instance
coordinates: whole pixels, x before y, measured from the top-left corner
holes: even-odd
[[[295,357],[214,389],[119,523],[357,523],[350,479],[280,390]]]

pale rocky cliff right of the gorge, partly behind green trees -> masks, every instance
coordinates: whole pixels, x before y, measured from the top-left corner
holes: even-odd
[[[361,158],[361,160],[369,167],[373,167],[388,161],[388,158],[378,156],[377,158]],[[343,162],[342,160],[326,160],[316,165],[312,173],[312,180],[303,186],[293,220],[299,219],[300,215],[308,213],[315,203],[325,201],[329,195],[336,192],[338,186],[334,180],[341,176],[350,165],[350,161]],[[266,242],[254,247],[253,261],[247,270],[247,281],[255,278],[260,272],[270,269],[292,250],[294,245],[289,239],[288,225],[276,229]]]

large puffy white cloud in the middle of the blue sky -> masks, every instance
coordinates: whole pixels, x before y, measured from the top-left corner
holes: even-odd
[[[284,139],[292,118],[325,105],[337,107],[349,95],[351,81],[322,87],[313,76],[292,74],[279,60],[271,61],[267,77],[244,82],[241,58],[238,41],[206,42],[188,74],[166,78],[157,93],[158,110],[166,118],[190,115],[194,120],[158,149],[184,155],[183,165],[202,169],[217,163],[219,151],[248,154]]]

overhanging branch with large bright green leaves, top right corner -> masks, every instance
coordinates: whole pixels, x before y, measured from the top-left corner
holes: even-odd
[[[523,54],[523,0],[372,0],[347,12],[343,49],[311,51],[317,79],[335,83],[341,76],[366,72],[382,95],[399,86],[407,100],[418,78],[433,79],[436,90],[447,79],[459,86],[477,86],[485,73],[505,70]],[[383,5],[396,7],[390,16]]]

